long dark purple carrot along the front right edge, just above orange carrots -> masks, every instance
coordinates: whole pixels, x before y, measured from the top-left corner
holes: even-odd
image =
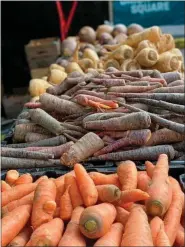
[[[89,161],[93,160],[157,160],[159,154],[164,153],[169,156],[169,159],[173,159],[175,151],[170,145],[158,145],[154,147],[144,147],[129,151],[115,152],[100,155],[98,157],[89,158]]]

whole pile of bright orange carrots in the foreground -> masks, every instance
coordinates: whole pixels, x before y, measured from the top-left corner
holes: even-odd
[[[81,164],[36,181],[9,170],[1,181],[2,246],[184,246],[184,193],[168,157],[117,164],[115,174]]]

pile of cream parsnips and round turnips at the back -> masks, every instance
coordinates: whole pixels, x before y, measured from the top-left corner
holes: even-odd
[[[93,68],[103,72],[109,67],[121,71],[184,71],[183,56],[175,48],[172,35],[162,34],[157,26],[143,29],[137,24],[128,28],[122,24],[100,25],[96,31],[86,26],[78,37],[62,42],[62,57],[50,66],[47,76],[30,81],[29,91],[32,97],[39,96],[73,71],[83,74]]]

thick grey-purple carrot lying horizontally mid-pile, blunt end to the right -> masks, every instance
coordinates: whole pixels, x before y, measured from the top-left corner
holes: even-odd
[[[84,128],[95,130],[134,130],[148,128],[151,124],[147,113],[131,113],[123,117],[108,120],[84,122]]]

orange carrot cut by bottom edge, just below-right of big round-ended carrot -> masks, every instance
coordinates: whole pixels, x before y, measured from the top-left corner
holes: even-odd
[[[123,235],[123,225],[114,223],[110,230],[96,241],[94,246],[120,246]]]

